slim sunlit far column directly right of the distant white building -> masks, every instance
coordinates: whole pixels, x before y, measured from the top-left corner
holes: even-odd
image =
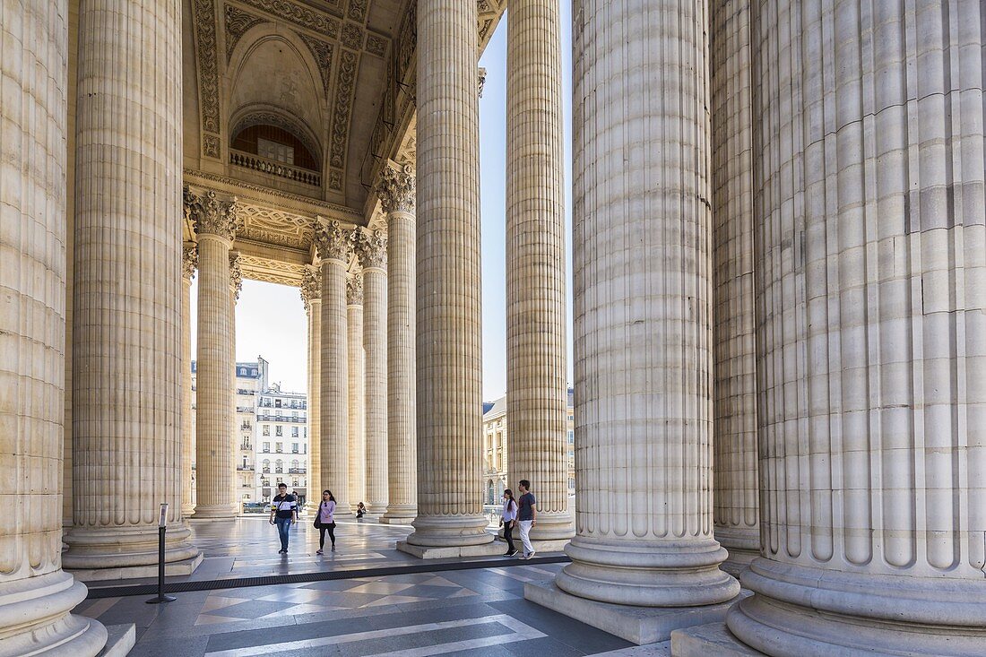
[[[308,430],[309,430],[309,466],[307,480],[309,483],[308,508],[314,511],[321,501],[321,491],[318,486],[321,473],[321,414],[320,386],[321,377],[321,268],[307,266],[302,278],[302,301],[309,319],[309,394],[308,394]]]

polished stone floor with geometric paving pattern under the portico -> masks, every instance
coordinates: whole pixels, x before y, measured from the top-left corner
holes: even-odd
[[[337,530],[335,552],[318,556],[317,531],[302,523],[282,556],[274,529],[262,520],[196,525],[205,561],[190,577],[169,581],[423,563],[393,548],[409,527],[352,522]],[[89,599],[76,612],[106,624],[135,623],[133,657],[667,654],[664,646],[632,647],[524,600],[525,582],[549,579],[561,564],[504,561],[503,567],[176,593],[166,605],[145,604],[148,596]],[[138,581],[145,580],[94,588]]]

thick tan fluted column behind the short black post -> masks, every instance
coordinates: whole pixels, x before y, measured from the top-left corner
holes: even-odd
[[[167,502],[165,558],[189,574],[202,555],[181,519],[180,3],[84,3],[80,21],[62,562],[87,580],[157,573]]]

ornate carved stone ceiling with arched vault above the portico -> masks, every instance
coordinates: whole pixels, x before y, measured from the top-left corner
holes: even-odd
[[[482,49],[507,0],[475,1]],[[317,217],[378,225],[371,189],[381,166],[414,162],[416,2],[185,3],[193,52],[185,60],[185,183],[238,197],[246,278],[298,285]],[[320,186],[231,164],[232,130],[258,121],[299,135],[317,154]],[[187,228],[185,236],[194,239]]]

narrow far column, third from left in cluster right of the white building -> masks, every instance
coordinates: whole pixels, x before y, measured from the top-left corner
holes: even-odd
[[[363,352],[363,276],[346,274],[346,354],[349,405],[349,503],[356,505],[367,496],[366,379]]]

